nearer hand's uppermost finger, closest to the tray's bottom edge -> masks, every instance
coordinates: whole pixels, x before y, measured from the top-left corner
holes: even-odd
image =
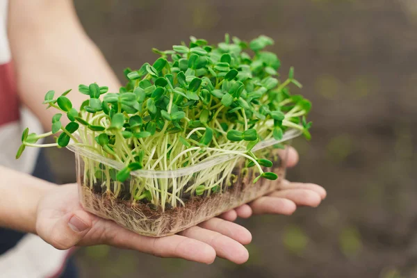
[[[236,240],[241,244],[249,244],[252,241],[252,234],[245,227],[234,222],[222,220],[220,218],[211,218],[199,224],[199,227],[216,231],[224,236]]]

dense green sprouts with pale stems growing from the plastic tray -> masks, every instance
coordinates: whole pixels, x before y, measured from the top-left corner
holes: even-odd
[[[254,183],[261,177],[277,179],[277,174],[262,169],[271,167],[272,161],[257,157],[252,149],[260,140],[281,140],[288,129],[299,129],[310,138],[311,122],[305,116],[311,103],[301,95],[291,95],[289,85],[302,87],[294,79],[293,67],[288,78],[279,81],[280,61],[264,51],[271,44],[273,40],[264,35],[250,43],[226,35],[217,46],[191,37],[188,45],[153,49],[161,57],[152,64],[124,70],[127,83],[119,92],[108,92],[97,83],[79,85],[79,92],[88,97],[79,108],[67,98],[71,90],[58,97],[49,91],[44,104],[60,111],[51,120],[51,131],[36,135],[25,129],[16,157],[25,147],[83,147],[124,165],[117,172],[85,161],[89,166],[84,184],[99,183],[115,197],[147,200],[163,208],[181,204],[183,190],[196,195],[216,193],[223,179],[193,186],[187,186],[187,180],[174,185],[126,184],[132,171],[177,170],[231,154],[246,158],[247,167],[256,167],[259,174]],[[70,123],[63,126],[61,117]],[[58,133],[56,143],[36,143]],[[227,169],[219,171],[230,174]],[[122,196],[126,188],[128,194]]]

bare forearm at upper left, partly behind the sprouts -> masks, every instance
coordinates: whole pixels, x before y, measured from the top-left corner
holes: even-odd
[[[57,113],[42,105],[47,91],[55,90],[58,96],[72,89],[70,98],[79,108],[88,97],[78,92],[79,84],[97,82],[113,91],[120,87],[104,56],[83,31],[72,1],[11,0],[9,37],[19,96],[45,129],[51,128],[51,117]],[[62,121],[65,124],[67,117]]]

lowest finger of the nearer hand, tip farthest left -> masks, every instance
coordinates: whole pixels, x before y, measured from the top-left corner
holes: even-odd
[[[179,235],[150,238],[135,234],[108,220],[104,238],[103,243],[162,258],[181,258],[207,264],[215,260],[213,247],[199,240]]]

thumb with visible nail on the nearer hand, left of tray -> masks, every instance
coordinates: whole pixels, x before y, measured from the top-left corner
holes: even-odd
[[[90,231],[92,220],[85,211],[74,211],[60,218],[38,218],[36,230],[47,243],[59,250],[67,250],[79,243]]]

